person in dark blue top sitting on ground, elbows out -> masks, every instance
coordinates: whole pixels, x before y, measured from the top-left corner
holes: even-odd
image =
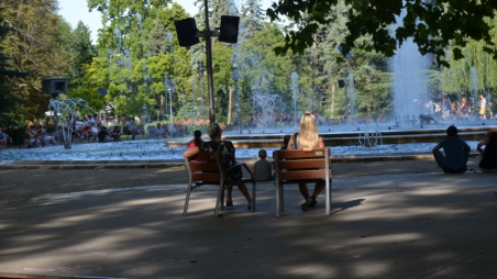
[[[451,125],[446,130],[448,137],[432,150],[433,157],[445,174],[463,174],[467,170],[471,147],[457,137],[457,127]],[[443,148],[445,155],[440,150]]]

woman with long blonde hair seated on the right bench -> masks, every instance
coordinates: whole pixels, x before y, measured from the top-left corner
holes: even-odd
[[[324,148],[324,142],[318,134],[318,125],[316,123],[316,116],[310,113],[303,113],[300,120],[300,133],[295,133],[288,142],[287,149],[302,149],[305,152],[311,152],[312,149]],[[319,193],[324,189],[325,181],[316,183],[312,196],[309,194],[309,189],[306,183],[299,183],[299,190],[306,200],[300,207],[302,211],[307,211],[313,208],[318,201],[316,200]]]

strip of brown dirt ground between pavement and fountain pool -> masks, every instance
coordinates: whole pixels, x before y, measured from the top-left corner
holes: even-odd
[[[479,159],[470,158],[468,169]],[[252,167],[252,166],[250,166]],[[441,171],[433,160],[333,163],[333,177]],[[25,203],[43,194],[187,183],[186,167],[137,169],[0,169],[0,205]]]

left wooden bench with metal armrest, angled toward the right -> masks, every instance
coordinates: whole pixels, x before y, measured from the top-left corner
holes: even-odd
[[[255,211],[255,190],[257,181],[245,164],[238,164],[227,169],[222,163],[222,155],[219,152],[201,152],[195,156],[185,157],[185,165],[188,168],[188,189],[183,215],[187,215],[188,202],[190,200],[190,193],[194,189],[205,185],[217,185],[219,186],[218,200],[214,209],[214,217],[217,217],[219,209],[221,208],[221,210],[224,210],[224,190],[229,187],[233,187],[240,181],[252,183],[251,211]],[[238,166],[245,168],[246,172],[248,172],[251,177],[229,182],[227,176],[228,171]]]

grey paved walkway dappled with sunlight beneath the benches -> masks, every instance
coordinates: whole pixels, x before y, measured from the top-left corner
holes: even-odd
[[[341,177],[332,214],[300,212],[272,183],[256,212],[239,192],[185,185],[38,198],[0,208],[0,272],[121,278],[497,278],[497,175]]]

